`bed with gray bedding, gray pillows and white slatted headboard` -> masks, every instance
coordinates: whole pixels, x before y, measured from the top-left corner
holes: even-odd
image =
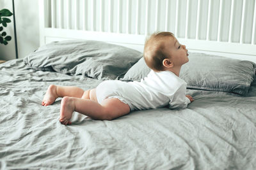
[[[220,1],[216,7],[214,2],[208,2],[198,1],[196,8],[207,5],[208,14],[214,15],[214,9],[220,7],[217,19],[223,20],[228,5]],[[195,24],[197,33],[191,38],[191,34],[186,33],[190,30],[188,19],[184,22],[185,34],[179,32],[182,30],[179,22],[177,27],[161,28],[159,20],[166,14],[164,11],[177,6],[174,18],[178,19],[182,4],[191,6],[186,11],[193,13],[193,1],[39,1],[42,46],[24,59],[0,64],[1,169],[255,169],[256,3],[243,1],[242,22],[228,27],[228,31],[233,32],[228,38],[230,41],[225,41],[223,36],[227,34],[223,33],[216,34],[215,40],[209,34],[205,39],[200,38],[200,24]],[[113,13],[122,11],[118,6],[128,8],[124,7],[127,12],[115,18]],[[236,6],[237,3],[230,1],[231,21]],[[155,25],[147,22],[152,18],[148,14],[153,13],[151,10],[156,14]],[[196,14],[203,16],[203,11],[198,10]],[[140,19],[131,17],[135,13],[135,18],[142,18],[143,12],[149,16],[144,18],[144,26],[138,24]],[[244,16],[250,12],[253,17],[248,43]],[[84,14],[88,17],[83,18]],[[134,24],[135,30],[132,26],[123,30],[124,22],[118,25],[123,15],[127,17],[125,23]],[[99,17],[99,22],[94,23],[93,16]],[[214,17],[206,18],[214,20]],[[90,23],[85,22],[86,19]],[[165,24],[169,19],[166,17]],[[220,26],[224,25],[220,22]],[[205,27],[205,32],[209,27]],[[217,30],[223,32],[222,27]],[[242,40],[238,42],[235,42],[236,27],[243,27],[238,34]],[[188,83],[187,94],[195,99],[188,108],[132,111],[110,121],[92,120],[74,112],[72,125],[66,126],[59,122],[61,98],[51,106],[41,105],[51,84],[87,90],[104,80],[143,78],[147,67],[141,58],[141,49],[151,29],[173,31],[190,51],[190,65],[184,65],[181,74]],[[93,51],[91,48],[98,58],[92,57],[92,53],[87,56]],[[226,57],[219,57],[220,54]],[[116,63],[118,59],[123,60],[124,66],[114,66],[113,60]],[[189,72],[191,68],[193,71]]]

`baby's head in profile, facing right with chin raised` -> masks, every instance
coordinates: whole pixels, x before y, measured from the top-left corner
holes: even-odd
[[[188,50],[172,32],[155,32],[145,42],[144,59],[154,71],[172,71],[188,62]]]

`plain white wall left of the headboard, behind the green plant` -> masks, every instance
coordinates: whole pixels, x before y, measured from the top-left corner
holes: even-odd
[[[8,8],[12,11],[12,1],[0,1],[0,9]],[[10,19],[12,23],[8,25],[6,32],[12,36],[12,41],[6,46],[0,45],[0,60],[15,59],[13,17],[10,17]],[[38,1],[15,0],[15,20],[18,55],[19,58],[23,58],[39,46]]]

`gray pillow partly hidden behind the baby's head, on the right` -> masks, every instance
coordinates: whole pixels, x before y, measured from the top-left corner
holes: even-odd
[[[189,62],[180,69],[188,89],[247,94],[255,76],[256,64],[205,53],[189,53]],[[123,81],[140,81],[149,73],[143,57],[125,73]]]

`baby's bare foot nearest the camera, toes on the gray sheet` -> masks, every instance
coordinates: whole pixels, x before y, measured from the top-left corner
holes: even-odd
[[[61,108],[60,108],[60,122],[64,125],[70,125],[69,121],[72,117],[72,114],[75,110],[75,104],[73,97],[63,97],[61,100]]]

